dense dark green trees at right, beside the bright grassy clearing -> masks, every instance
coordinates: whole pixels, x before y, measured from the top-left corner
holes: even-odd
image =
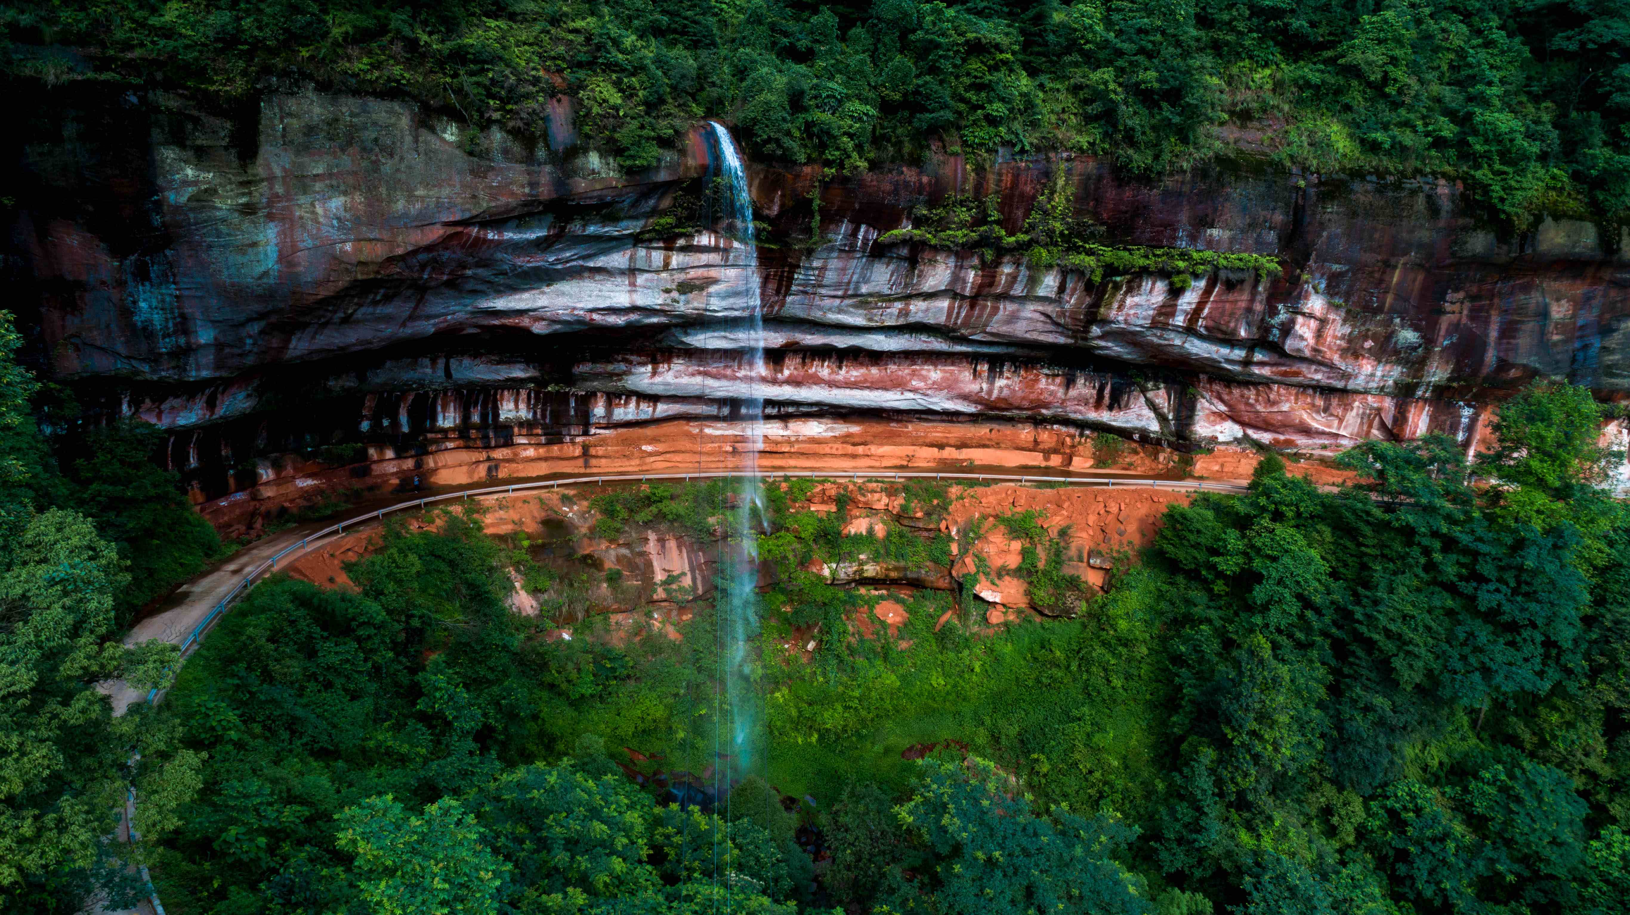
[[[1597,423],[1535,384],[1475,466],[1371,441],[1363,487],[1265,461],[1250,495],[1169,511],[1167,874],[1252,913],[1573,912],[1617,879],[1615,834],[1589,835],[1625,811],[1599,684],[1623,676],[1630,516],[1589,487]]]

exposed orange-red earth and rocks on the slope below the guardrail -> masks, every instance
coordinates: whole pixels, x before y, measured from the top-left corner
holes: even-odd
[[[639,485],[639,484],[616,484]],[[1110,568],[1154,542],[1169,505],[1187,505],[1193,493],[1152,487],[1064,487],[1025,485],[936,487],[941,503],[926,518],[921,501],[908,503],[900,484],[822,482],[789,503],[792,511],[817,514],[844,513],[848,549],[843,560],[815,558],[805,571],[826,583],[869,594],[852,622],[867,638],[883,628],[898,635],[906,622],[905,606],[890,594],[949,591],[958,607],[970,611],[973,624],[1001,625],[1038,614],[1073,614],[1079,604],[1037,609],[1030,599],[1032,571],[1024,570],[1025,545],[996,519],[1030,514],[1040,524],[1043,563],[1060,558],[1060,568],[1079,583],[1077,598],[1090,598],[1110,584]],[[531,560],[553,571],[546,591],[526,591],[512,571],[510,607],[520,614],[546,612],[562,625],[580,622],[585,614],[610,614],[615,632],[649,627],[678,638],[673,622],[691,619],[691,604],[712,593],[720,544],[698,539],[662,521],[629,524],[616,537],[597,532],[598,514],[592,498],[601,487],[567,487],[526,497],[489,498],[481,506],[481,523],[489,534],[509,544],[525,544]],[[921,495],[919,495],[921,497]],[[429,529],[435,516],[406,514],[412,529]],[[924,542],[950,541],[950,563],[885,562],[869,555],[867,537],[882,541],[890,531]],[[284,573],[321,588],[350,588],[346,567],[380,547],[375,524],[357,529],[298,555]],[[1048,549],[1056,542],[1061,550]],[[879,544],[882,547],[882,544]],[[880,552],[880,549],[879,549]],[[760,583],[778,586],[773,563],[760,568]],[[941,620],[944,622],[944,620]],[[882,625],[877,625],[882,624]],[[795,641],[802,643],[807,633]],[[791,643],[789,643],[791,646]]]

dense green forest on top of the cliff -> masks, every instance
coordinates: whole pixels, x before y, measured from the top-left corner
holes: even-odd
[[[624,168],[699,117],[852,171],[927,145],[1159,173],[1263,135],[1311,173],[1447,176],[1491,215],[1630,207],[1620,0],[57,0],[0,10],[13,78],[236,104],[388,93],[543,137],[549,101]]]

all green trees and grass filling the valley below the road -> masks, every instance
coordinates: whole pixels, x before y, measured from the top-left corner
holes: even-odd
[[[1475,462],[1372,441],[1341,458],[1364,482],[1320,488],[1267,458],[1250,492],[1169,506],[1102,594],[1035,513],[1002,514],[1060,615],[994,632],[927,591],[856,637],[879,596],[805,568],[944,563],[952,539],[848,534],[795,508],[813,480],[771,484],[771,760],[712,804],[675,786],[719,752],[714,599],[680,640],[605,617],[559,638],[505,599],[518,575],[562,612],[570,583],[479,511],[390,524],[350,586],[259,584],[139,729],[103,720],[140,764],[73,759],[142,785],[139,853],[186,912],[1622,913],[1630,514],[1599,488],[1601,418],[1540,383]],[[954,498],[903,495],[924,518]],[[701,536],[727,497],[590,508],[605,536]],[[46,544],[21,542],[29,581]],[[794,632],[808,658],[779,651]],[[86,886],[95,835],[23,889]]]

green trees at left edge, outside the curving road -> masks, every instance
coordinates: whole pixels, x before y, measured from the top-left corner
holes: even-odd
[[[51,506],[65,487],[16,345],[0,313],[0,908],[72,912],[91,892],[119,902],[139,889],[108,842],[129,778],[155,788],[150,812],[163,821],[197,760],[129,767],[142,716],[116,720],[96,684],[158,682],[176,655],[119,645],[127,563],[91,518]]]

